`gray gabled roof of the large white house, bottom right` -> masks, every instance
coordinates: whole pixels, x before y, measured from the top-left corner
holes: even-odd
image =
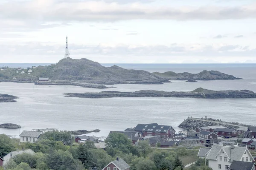
[[[244,155],[244,152],[247,150],[247,147],[234,146],[232,149],[231,146],[213,145],[207,154],[207,159],[216,160],[221,149],[227,153],[227,156],[230,159],[229,161],[240,161],[241,157]]]

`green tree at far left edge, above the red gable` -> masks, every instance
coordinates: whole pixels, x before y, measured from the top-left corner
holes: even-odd
[[[15,150],[15,143],[8,136],[0,135],[0,157],[6,156],[9,152]]]

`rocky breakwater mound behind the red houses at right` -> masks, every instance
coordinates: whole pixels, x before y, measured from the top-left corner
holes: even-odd
[[[217,126],[221,125],[230,129],[238,129],[239,127],[248,127],[251,125],[244,125],[238,122],[225,122],[221,119],[212,118],[188,118],[185,119],[178,127],[184,130],[195,130],[196,127],[202,126]]]

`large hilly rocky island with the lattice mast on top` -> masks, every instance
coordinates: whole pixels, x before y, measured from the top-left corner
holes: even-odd
[[[163,84],[170,79],[178,80],[227,80],[240,79],[219,71],[202,71],[198,74],[150,73],[143,70],[131,70],[117,65],[104,67],[89,59],[61,59],[58,63],[33,68],[6,68],[0,71],[0,81],[36,82],[39,77],[49,77],[52,85],[78,85],[89,88],[108,88],[103,85],[113,84]],[[66,83],[60,81],[68,81]],[[41,83],[49,85],[51,83]],[[94,84],[94,85],[93,85]],[[96,86],[101,85],[101,86]],[[40,85],[40,83],[39,83]]]

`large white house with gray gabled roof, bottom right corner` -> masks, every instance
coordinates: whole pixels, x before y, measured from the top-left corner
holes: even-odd
[[[207,153],[206,159],[209,160],[209,167],[212,170],[228,170],[232,161],[253,162],[253,156],[247,147],[238,145],[213,145]]]

